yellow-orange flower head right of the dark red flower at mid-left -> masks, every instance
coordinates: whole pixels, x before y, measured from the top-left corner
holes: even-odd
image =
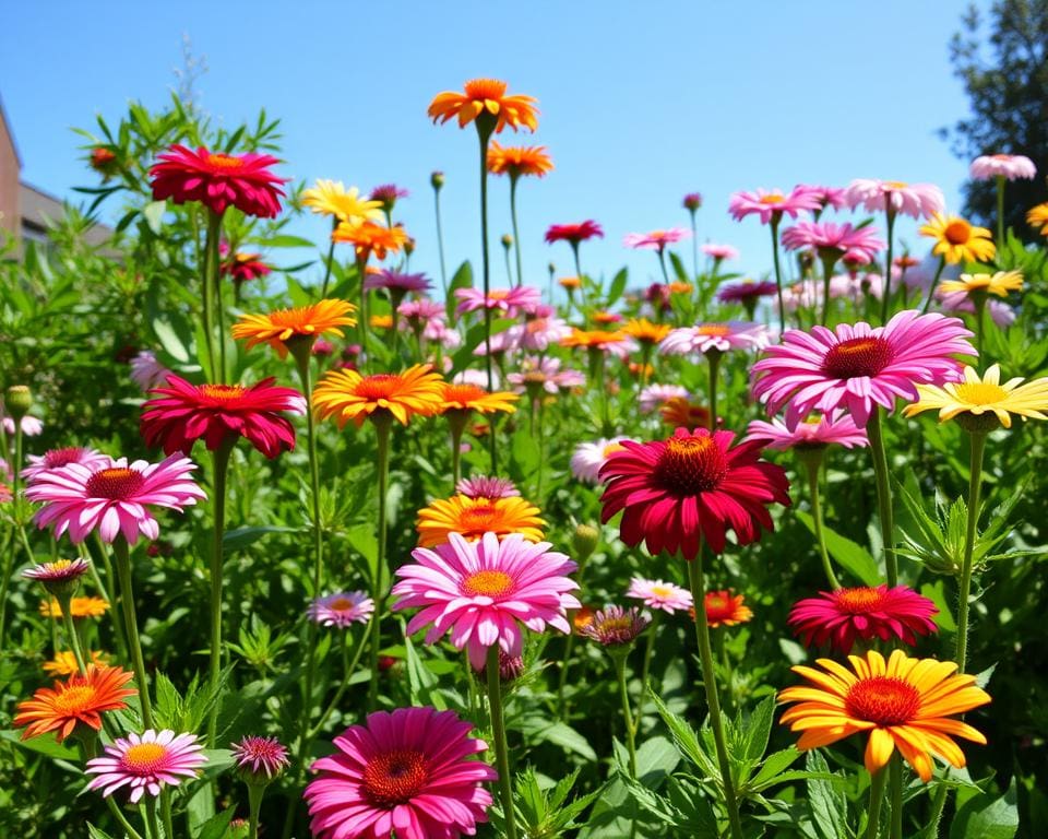
[[[440,412],[443,379],[428,364],[416,364],[403,373],[361,376],[357,370],[331,370],[313,389],[313,407],[322,420],[335,417],[338,427],[353,420],[396,418],[403,425],[415,415]]]

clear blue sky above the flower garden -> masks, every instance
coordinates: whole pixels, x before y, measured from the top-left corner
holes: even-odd
[[[206,59],[201,105],[224,125],[260,107],[283,120],[281,173],[410,190],[397,215],[418,240],[414,270],[439,276],[429,174],[442,169],[449,268],[479,258],[476,135],[426,117],[432,96],[488,75],[527,93],[556,170],[519,190],[525,276],[545,285],[552,260],[572,273],[550,223],[595,218],[607,238],[584,268],[632,284],[657,274],[622,236],[687,226],[680,201],[702,192],[700,241],[742,252],[737,270],[770,269],[767,232],[727,215],[728,197],[760,186],[846,185],[854,177],[932,181],[951,209],[966,163],[936,130],[967,110],[948,42],[966,3],[839,0],[733,3],[196,2],[15,3],[0,29],[0,97],[23,178],[58,196],[93,182],[72,126],[116,121],[130,99],[159,106],[181,64],[181,38]],[[985,7],[986,2],[980,2]],[[992,151],[992,150],[989,150]],[[491,190],[493,277],[510,229],[508,187]],[[79,199],[78,199],[79,200]],[[846,217],[846,216],[845,216]],[[296,232],[321,239],[326,225]],[[915,241],[913,226],[902,237]],[[917,245],[924,252],[924,245]],[[690,246],[681,255],[690,264]],[[273,255],[277,262],[300,255]]]

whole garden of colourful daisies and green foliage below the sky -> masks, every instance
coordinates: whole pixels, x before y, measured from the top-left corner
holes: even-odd
[[[1000,208],[1044,174],[973,162],[996,229],[740,190],[760,280],[689,193],[623,238],[658,282],[594,220],[536,282],[537,99],[428,116],[479,139],[454,271],[442,173],[427,274],[405,190],[291,184],[275,122],[177,98],[83,132],[105,249],[73,212],[4,251],[0,832],[1038,836],[1048,272]]]

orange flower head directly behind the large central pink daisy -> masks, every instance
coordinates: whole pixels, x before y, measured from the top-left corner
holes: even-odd
[[[520,496],[509,498],[469,498],[455,495],[437,499],[418,511],[415,529],[420,547],[433,547],[448,541],[449,533],[460,533],[475,541],[485,533],[495,533],[500,539],[510,533],[520,533],[528,542],[541,542],[541,528],[546,522],[538,518],[539,509]]]

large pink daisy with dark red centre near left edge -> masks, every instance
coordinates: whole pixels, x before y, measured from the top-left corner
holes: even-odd
[[[199,499],[203,491],[189,476],[196,466],[189,458],[171,454],[160,463],[127,458],[107,458],[88,469],[82,463],[70,463],[37,476],[25,491],[31,501],[41,501],[33,521],[37,527],[55,525],[56,539],[67,530],[74,542],[83,542],[98,531],[104,542],[112,542],[118,534],[130,543],[159,535],[159,525],[148,510],[150,506],[182,511]]]

